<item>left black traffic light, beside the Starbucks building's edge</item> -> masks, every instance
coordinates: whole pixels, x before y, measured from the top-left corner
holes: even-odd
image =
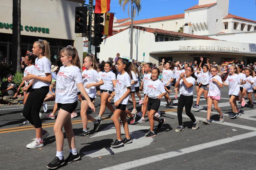
[[[87,7],[75,7],[75,33],[87,33]]]

